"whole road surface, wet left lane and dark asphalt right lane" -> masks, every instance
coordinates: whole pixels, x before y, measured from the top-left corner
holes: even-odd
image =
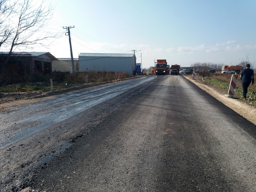
[[[256,191],[255,125],[183,76],[1,115],[1,191]]]

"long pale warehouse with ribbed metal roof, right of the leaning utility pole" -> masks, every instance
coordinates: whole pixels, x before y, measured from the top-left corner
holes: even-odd
[[[134,54],[123,53],[80,53],[79,71],[121,72],[134,75],[136,57]]]

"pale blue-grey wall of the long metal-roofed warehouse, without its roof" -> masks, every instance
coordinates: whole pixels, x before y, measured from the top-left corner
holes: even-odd
[[[134,74],[135,60],[133,57],[79,57],[79,71],[106,71]]]

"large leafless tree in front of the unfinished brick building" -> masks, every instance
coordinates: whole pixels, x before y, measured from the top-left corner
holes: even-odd
[[[32,0],[16,0],[8,3],[8,0],[0,0],[1,13],[4,17],[0,21],[1,45],[8,48],[7,59],[1,66],[1,75],[4,74],[4,68],[8,63],[12,52],[18,50],[32,50],[37,44],[46,47],[45,40],[57,38],[59,35],[45,31],[47,20],[52,18],[53,7],[33,4]]]

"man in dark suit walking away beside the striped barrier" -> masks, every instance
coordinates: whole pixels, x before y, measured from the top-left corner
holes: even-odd
[[[246,100],[246,94],[250,83],[252,82],[252,85],[254,84],[254,73],[253,70],[250,69],[250,67],[250,64],[246,64],[245,69],[242,70],[242,73],[240,75],[243,85],[244,100]]]

